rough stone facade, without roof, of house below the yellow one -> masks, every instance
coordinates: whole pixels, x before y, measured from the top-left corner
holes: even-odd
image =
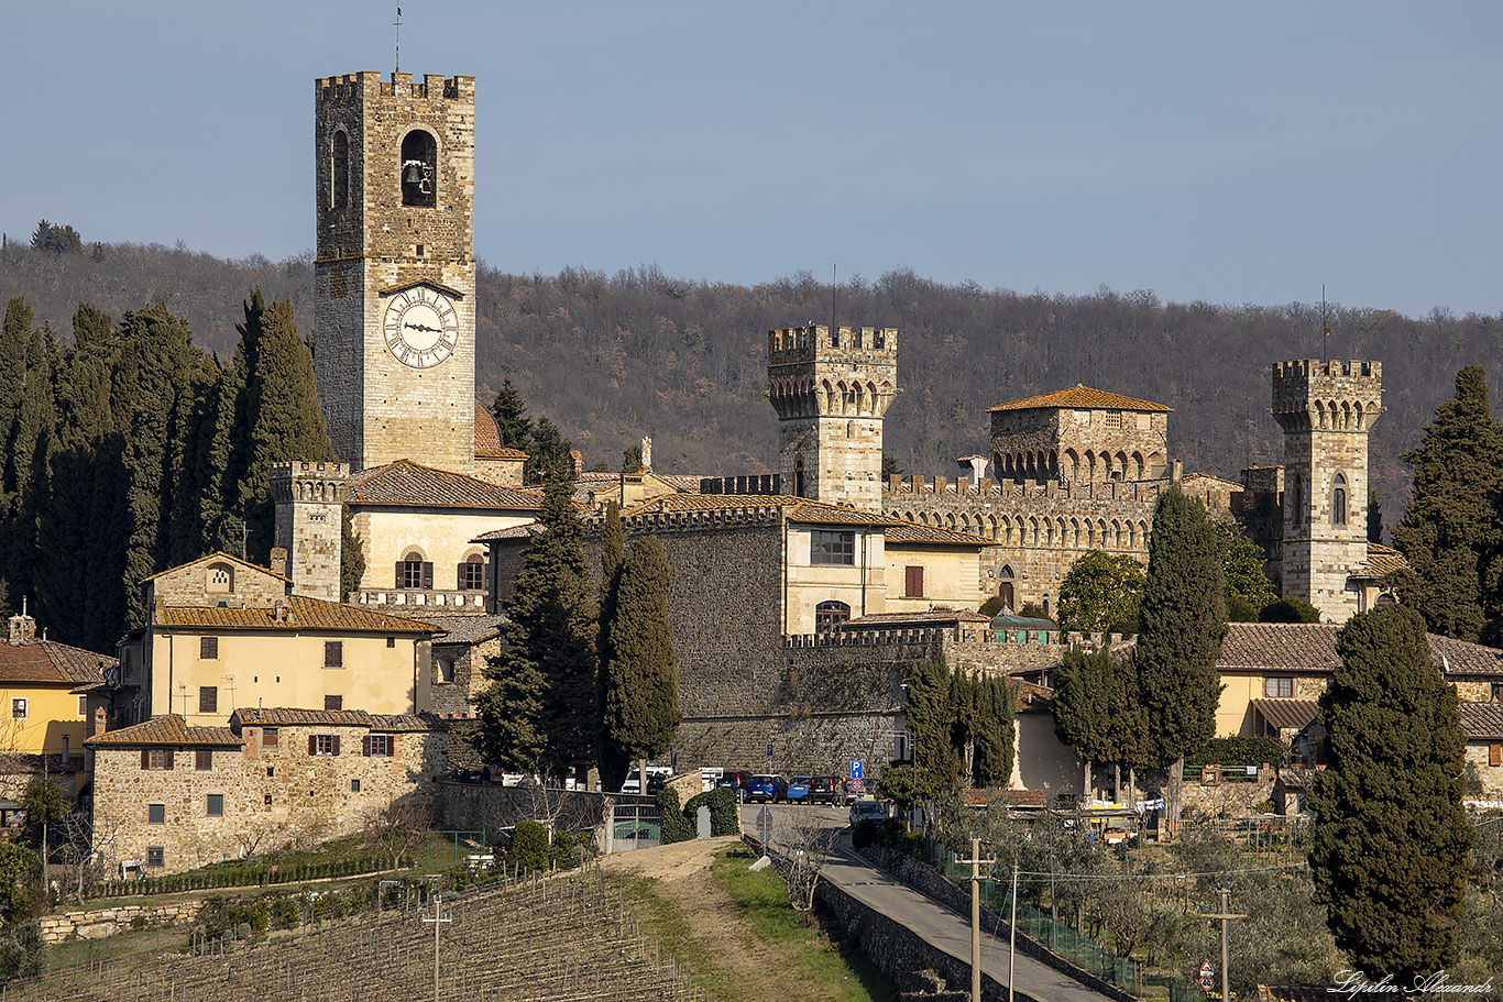
[[[95,747],[95,850],[110,873],[122,859],[146,862],[161,849],[150,876],[180,873],[221,859],[268,852],[295,838],[323,841],[359,831],[388,804],[427,810],[433,783],[446,768],[448,735],[389,735],[391,756],[364,754],[367,727],[310,724],[278,729],[268,745],[263,727],[246,727],[243,748],[212,748],[207,769],[197,750],[177,748],[171,769],[141,768],[140,747]],[[338,754],[310,754],[310,736],[338,738]],[[222,813],[209,814],[209,796]],[[152,805],[161,805],[159,823]]]

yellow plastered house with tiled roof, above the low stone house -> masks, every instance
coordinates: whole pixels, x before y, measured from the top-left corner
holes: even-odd
[[[287,578],[222,553],[146,581],[149,620],[120,643],[116,726],[176,712],[213,726],[236,706],[410,714],[431,705],[439,626],[287,595]]]

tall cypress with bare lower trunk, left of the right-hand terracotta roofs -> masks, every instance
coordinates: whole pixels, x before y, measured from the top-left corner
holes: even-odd
[[[1216,733],[1226,635],[1226,586],[1216,530],[1201,503],[1174,487],[1153,508],[1148,575],[1138,602],[1138,702],[1156,759],[1172,763],[1165,816],[1180,819],[1184,756]]]

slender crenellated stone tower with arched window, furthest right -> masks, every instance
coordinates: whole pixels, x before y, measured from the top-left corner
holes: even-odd
[[[1357,613],[1351,572],[1368,562],[1368,431],[1383,413],[1381,362],[1273,365],[1284,428],[1281,593],[1332,622]]]

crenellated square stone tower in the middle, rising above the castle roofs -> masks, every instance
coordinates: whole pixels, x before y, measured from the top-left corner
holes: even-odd
[[[897,330],[768,332],[785,494],[882,511],[882,416],[897,397]]]

